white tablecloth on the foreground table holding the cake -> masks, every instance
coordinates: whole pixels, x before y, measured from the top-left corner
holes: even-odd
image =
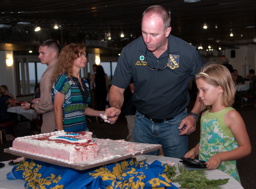
[[[151,156],[151,155],[143,155],[145,156],[147,159],[145,160],[148,164],[151,164],[153,161],[158,160],[162,163],[166,163],[166,161],[172,161],[173,163],[175,163],[175,166],[178,168],[178,163],[180,161],[180,159],[178,158],[171,158],[171,157],[162,157],[162,156]],[[8,165],[9,161],[3,161],[2,163],[5,164],[5,167],[0,168],[0,189],[24,189],[24,184],[25,181],[24,180],[9,180],[6,178],[6,174],[8,172],[10,172],[13,168],[13,165]],[[180,163],[180,165],[183,165],[182,163]],[[190,170],[194,170],[194,168],[187,168]],[[177,169],[178,170],[178,169]],[[224,189],[230,189],[230,188],[234,188],[234,189],[243,189],[242,185],[237,182],[237,180],[235,180],[234,178],[230,177],[228,174],[218,170],[218,169],[214,169],[214,170],[206,170],[207,173],[207,178],[208,179],[224,179],[224,178],[228,178],[229,181],[227,184],[221,185],[222,188]],[[174,182],[173,183],[175,186],[179,187],[179,183]]]

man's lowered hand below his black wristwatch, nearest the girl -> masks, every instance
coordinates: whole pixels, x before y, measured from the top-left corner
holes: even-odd
[[[196,119],[195,117],[188,115],[185,117],[179,125],[179,135],[191,134],[196,130]]]

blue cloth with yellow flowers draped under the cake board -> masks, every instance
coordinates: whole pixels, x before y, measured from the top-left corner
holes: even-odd
[[[149,165],[135,158],[87,170],[26,159],[23,165],[13,167],[7,178],[23,179],[25,188],[31,189],[177,188],[166,171],[167,165],[157,160]]]

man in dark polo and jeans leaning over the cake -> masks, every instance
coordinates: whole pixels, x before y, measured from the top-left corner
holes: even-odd
[[[205,61],[196,47],[169,35],[170,31],[170,15],[165,8],[151,6],[143,13],[142,37],[121,52],[111,82],[111,107],[104,114],[115,116],[110,123],[116,121],[123,92],[133,78],[133,103],[137,109],[134,141],[161,144],[164,156],[180,158],[188,151],[187,134],[195,131],[201,107],[197,97],[187,116],[188,82],[191,77],[195,79]]]

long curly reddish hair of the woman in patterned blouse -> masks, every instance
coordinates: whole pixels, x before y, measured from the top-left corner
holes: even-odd
[[[71,43],[69,45],[64,46],[61,49],[57,63],[55,65],[55,71],[51,78],[51,87],[53,86],[56,78],[62,73],[66,73],[68,77],[71,80],[73,80],[72,79],[73,62],[75,59],[78,58],[79,53],[85,54],[84,44]]]

